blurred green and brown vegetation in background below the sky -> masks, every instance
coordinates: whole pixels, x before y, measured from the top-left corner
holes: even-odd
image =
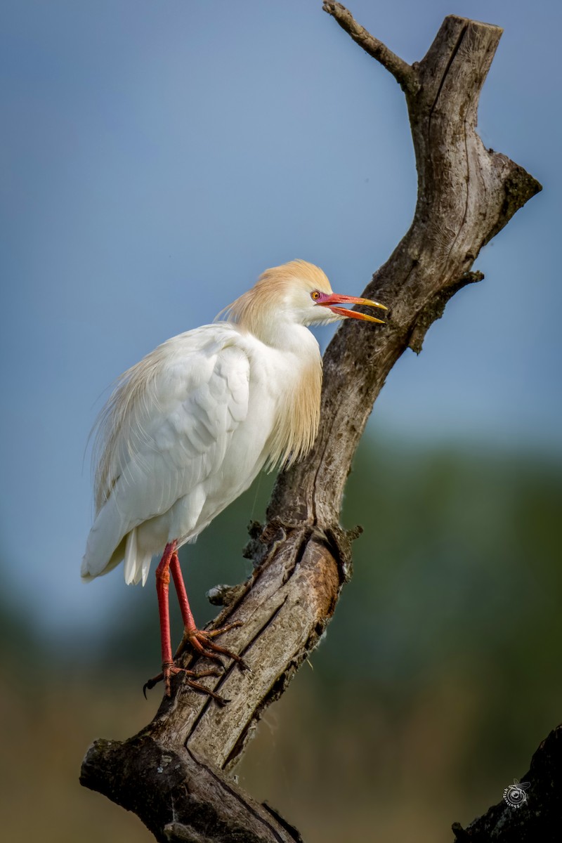
[[[183,549],[200,622],[215,613],[206,589],[249,572],[245,525],[263,515],[271,483],[260,478]],[[266,712],[243,785],[308,843],[450,840],[454,820],[499,801],[559,720],[560,513],[559,462],[367,438],[343,513],[363,527],[354,576],[313,671],[305,664]],[[123,593],[78,655],[45,651],[40,631],[0,605],[7,839],[151,839],[78,786],[88,743],[125,738],[158,705],[157,691],[148,704],[141,693],[158,669],[153,588]],[[179,637],[177,615],[174,625]],[[39,808],[22,826],[29,792]]]

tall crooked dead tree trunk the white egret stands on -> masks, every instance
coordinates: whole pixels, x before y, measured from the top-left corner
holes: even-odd
[[[367,334],[350,319],[330,343],[317,442],[307,459],[279,476],[267,524],[255,525],[249,544],[254,575],[228,594],[213,624],[244,621],[224,641],[251,670],[230,666],[219,679],[203,680],[229,699],[227,706],[176,679],[172,698],[142,733],[123,744],[99,741],[88,751],[83,784],[135,811],[158,840],[298,839],[225,773],[265,707],[317,645],[350,575],[353,535],[340,529],[341,499],[390,369],[408,347],[420,351],[454,293],[479,281],[481,273],[471,269],[479,250],[541,189],[505,155],[485,149],[476,133],[498,27],[447,17],[425,58],[409,66],[339,3],[324,3],[324,10],[404,90],[418,172],[415,217],[364,293],[388,305],[388,324]]]

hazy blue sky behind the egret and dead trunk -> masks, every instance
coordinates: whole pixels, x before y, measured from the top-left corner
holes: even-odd
[[[500,24],[479,132],[544,185],[371,424],[559,459],[560,4],[350,8],[409,62],[447,13]],[[360,294],[409,226],[415,166],[402,92],[319,0],[19,0],[0,24],[0,547],[15,597],[32,582],[64,631],[125,588],[78,577],[108,385],[266,266],[302,257]]]

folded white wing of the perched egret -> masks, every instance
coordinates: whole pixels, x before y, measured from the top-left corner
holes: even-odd
[[[98,515],[83,577],[118,564],[127,534],[169,513],[180,499],[178,529],[184,536],[195,529],[205,502],[201,485],[221,470],[248,412],[249,359],[238,336],[225,325],[188,331],[120,379],[99,428]],[[145,557],[156,550],[145,549]]]

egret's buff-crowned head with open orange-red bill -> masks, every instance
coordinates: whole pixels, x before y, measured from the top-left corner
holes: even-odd
[[[334,293],[328,277],[318,266],[306,260],[291,260],[265,270],[254,287],[223,313],[229,321],[236,322],[260,338],[270,335],[272,325],[287,323],[325,325],[351,318],[383,324],[383,319],[341,306],[351,304],[387,309],[384,304],[368,298]]]

